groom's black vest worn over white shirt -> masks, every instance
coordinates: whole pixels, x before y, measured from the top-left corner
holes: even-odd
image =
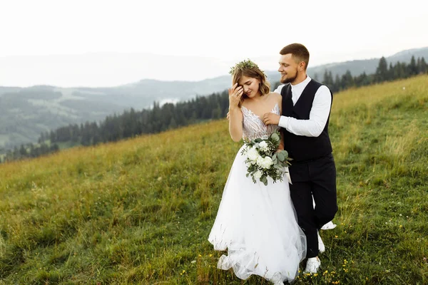
[[[318,88],[322,86],[321,83],[311,79],[299,100],[296,104],[292,105],[292,92],[290,84],[282,87],[282,115],[287,117],[296,118],[297,120],[308,120],[309,113],[312,109],[312,103],[315,98],[315,93]],[[333,103],[333,94],[332,103]],[[331,107],[330,107],[331,111]],[[330,120],[330,113],[327,118],[324,130],[318,137],[305,137],[303,135],[295,135],[285,128],[282,128],[282,135],[284,136],[284,148],[289,153],[289,156],[293,159],[293,162],[300,162],[304,160],[314,160],[319,157],[323,157],[332,152],[332,144],[328,136],[328,122]]]

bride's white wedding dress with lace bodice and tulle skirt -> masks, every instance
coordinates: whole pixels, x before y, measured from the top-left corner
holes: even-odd
[[[266,126],[251,110],[242,107],[243,137],[261,138],[277,130]],[[280,114],[276,104],[272,113]],[[232,268],[240,279],[263,276],[273,283],[292,281],[306,255],[306,238],[297,224],[287,177],[267,186],[246,177],[241,149],[235,157],[223,190],[217,217],[208,241],[215,250],[228,250],[219,269]]]

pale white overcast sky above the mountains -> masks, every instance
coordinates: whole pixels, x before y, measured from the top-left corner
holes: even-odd
[[[422,0],[0,0],[0,86],[198,81],[245,58],[275,70],[295,42],[310,66],[391,56],[428,46],[427,27]]]

